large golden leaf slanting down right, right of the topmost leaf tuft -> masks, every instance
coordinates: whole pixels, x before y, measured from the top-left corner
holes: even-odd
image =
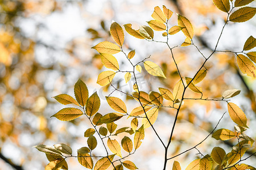
[[[181,31],[184,33],[186,37],[189,39],[193,38],[193,27],[192,24],[189,22],[185,16],[177,15],[178,16],[178,25],[181,27]]]

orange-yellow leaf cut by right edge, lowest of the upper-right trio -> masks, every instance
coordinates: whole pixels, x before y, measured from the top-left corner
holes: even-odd
[[[250,61],[249,58],[243,56],[242,54],[238,54],[237,63],[242,71],[242,73],[247,74],[253,78],[256,78],[256,67],[253,62]]]

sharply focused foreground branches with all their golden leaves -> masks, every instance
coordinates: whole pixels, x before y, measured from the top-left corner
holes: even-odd
[[[253,7],[242,7],[232,12],[234,8],[247,5],[252,1],[237,0],[235,2],[230,2],[228,0],[213,0],[213,2],[220,10],[227,12],[228,17],[225,25],[228,22],[246,22],[247,20],[253,18],[256,13],[256,9]],[[150,20],[149,22],[147,22],[149,27],[146,25],[142,25],[138,30],[133,29],[131,27],[131,24],[125,24],[124,27],[126,32],[130,35],[138,39],[145,39],[147,41],[155,41],[153,29],[155,31],[164,31],[162,33],[162,36],[167,37],[167,40],[165,42],[155,42],[166,44],[170,49],[171,57],[175,62],[175,57],[172,49],[177,48],[178,45],[171,48],[168,45],[168,36],[175,35],[177,32],[182,31],[186,38],[180,46],[193,45],[195,46],[195,48],[197,48],[197,46],[193,43],[192,24],[187,18],[185,18],[185,16],[177,15],[177,25],[174,25],[170,29],[168,28],[168,20],[171,18],[172,14],[173,12],[165,6],[163,6],[163,10],[160,9],[160,7],[156,6],[153,14],[151,15],[154,20]],[[225,25],[223,29],[225,28]],[[85,83],[79,79],[75,84],[74,88],[76,100],[72,96],[69,96],[67,94],[61,94],[54,97],[61,104],[75,104],[79,108],[61,109],[61,111],[54,114],[53,117],[56,117],[61,121],[71,121],[77,117],[85,115],[90,121],[90,124],[92,125],[92,128],[87,129],[84,133],[84,137],[88,138],[88,147],[80,148],[79,150],[77,150],[77,156],[73,156],[71,148],[62,143],[54,145],[54,147],[45,145],[35,146],[36,148],[38,148],[39,151],[45,152],[48,160],[50,161],[50,163],[46,166],[46,169],[67,169],[68,167],[65,159],[69,157],[76,157],[81,165],[89,169],[103,170],[108,168],[110,165],[113,165],[114,169],[123,169],[123,167],[126,167],[127,169],[137,169],[136,165],[133,162],[124,159],[126,159],[131,154],[134,154],[139,146],[141,146],[142,140],[144,139],[144,129],[149,127],[154,130],[156,137],[159,138],[166,152],[163,168],[166,169],[167,161],[176,157],[174,156],[173,158],[167,158],[168,148],[170,147],[172,141],[172,135],[181,105],[185,104],[185,100],[193,100],[193,98],[185,98],[185,92],[189,88],[191,91],[201,94],[201,98],[194,100],[211,100],[208,98],[203,98],[203,90],[201,87],[196,86],[196,84],[200,83],[205,78],[205,76],[207,76],[208,69],[205,66],[205,63],[211,56],[213,56],[213,53],[217,51],[216,49],[218,42],[216,44],[216,48],[208,57],[205,57],[203,53],[201,53],[200,50],[197,48],[204,57],[205,61],[192,78],[184,78],[179,71],[179,67],[176,65],[180,80],[175,84],[172,92],[167,88],[159,87],[159,92],[151,91],[147,93],[141,91],[137,85],[137,74],[135,74],[135,71],[138,71],[139,73],[142,72],[142,66],[139,64],[143,63],[144,69],[147,71],[148,74],[158,76],[160,78],[166,78],[162,69],[156,63],[147,61],[147,59],[150,57],[144,58],[142,61],[139,61],[137,63],[133,63],[132,59],[135,56],[135,50],[131,50],[128,54],[126,54],[125,50],[123,49],[125,35],[123,33],[121,25],[113,22],[110,27],[110,33],[117,45],[109,41],[104,41],[92,47],[93,49],[96,49],[98,53],[100,53],[103,65],[108,69],[112,69],[100,73],[98,75],[97,83],[101,86],[106,86],[110,84],[110,86],[114,88],[114,91],[119,91],[123,94],[133,97],[135,100],[138,101],[139,107],[134,108],[129,113],[127,111],[124,101],[122,101],[118,97],[110,96],[111,94],[113,94],[113,91],[109,96],[106,96],[106,101],[108,102],[109,106],[116,112],[102,115],[101,113],[98,113],[98,109],[100,108],[100,97],[97,95],[97,92],[89,97],[88,88],[86,87]],[[220,34],[220,37],[221,35],[222,32]],[[220,40],[220,37],[218,40]],[[249,39],[246,40],[242,52],[233,52],[237,56],[237,63],[242,73],[245,73],[248,76],[252,76],[254,78],[256,73],[256,67],[253,62],[255,62],[256,52],[244,53],[244,51],[253,49],[255,46],[256,39],[254,39],[253,36],[250,36]],[[119,68],[118,61],[113,56],[113,54],[119,52],[123,53],[127,61],[131,64],[131,66],[133,66],[133,70],[124,71],[122,70],[122,68]],[[243,54],[246,54],[247,57]],[[126,92],[123,92],[119,90],[118,87],[115,87],[112,84],[112,80],[114,79],[115,74],[118,73],[125,73],[124,79],[126,83],[131,81],[132,76],[134,77],[133,93],[128,94]],[[237,138],[238,143],[233,146],[232,151],[230,151],[228,154],[226,154],[224,149],[222,149],[221,147],[214,147],[210,155],[203,155],[199,151],[203,158],[194,160],[188,165],[186,169],[212,169],[213,166],[216,165],[215,163],[217,163],[215,169],[255,169],[250,165],[239,164],[243,160],[247,159],[242,159],[242,156],[245,154],[248,148],[253,146],[254,140],[244,133],[246,128],[248,128],[245,113],[243,113],[242,109],[239,108],[236,104],[229,102],[229,100],[226,100],[238,94],[240,94],[240,90],[227,90],[223,93],[222,99],[212,99],[216,101],[224,101],[228,104],[228,112],[230,118],[235,124],[237,124],[235,125],[235,131],[229,129],[218,129],[214,131],[214,133],[210,133],[212,134],[213,138],[221,141]],[[164,99],[168,101],[169,105],[165,105],[166,101],[164,101]],[[170,131],[170,138],[168,139],[167,143],[163,142],[153,126],[156,119],[158,118],[159,108],[169,108],[176,110],[175,121],[173,124],[173,128]],[[123,117],[133,118],[130,122],[131,126],[117,129],[117,124],[115,124],[115,121],[118,121]],[[120,142],[114,139],[115,136],[120,133],[126,133],[127,135],[129,134],[129,137],[125,136],[122,138],[121,145],[119,144]],[[98,135],[98,138],[100,138],[100,140],[97,141],[97,138],[94,137],[94,135]],[[131,140],[131,135],[134,136],[133,141]],[[107,141],[105,141],[105,139]],[[105,147],[105,156],[93,156],[92,154],[93,150],[97,147],[97,143],[99,141],[102,142],[102,145],[104,145]],[[113,152],[113,155],[109,154],[106,145],[108,146],[109,150]],[[193,148],[196,148],[196,146]],[[126,151],[125,156],[122,155],[122,149]],[[181,154],[184,154],[184,152],[182,152]],[[118,158],[116,158],[115,156],[118,156]],[[98,159],[96,164],[93,163],[93,159]],[[175,161],[172,169],[181,169],[179,162]]]

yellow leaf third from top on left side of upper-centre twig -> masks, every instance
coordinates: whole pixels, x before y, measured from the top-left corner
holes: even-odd
[[[119,70],[117,59],[112,54],[101,53],[101,62],[109,69]]]

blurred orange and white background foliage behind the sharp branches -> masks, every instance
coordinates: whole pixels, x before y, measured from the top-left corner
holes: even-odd
[[[177,12],[191,21],[195,28],[195,43],[209,54],[217,42],[224,24],[225,13],[218,10],[208,0],[1,0],[0,1],[0,167],[1,169],[43,169],[47,159],[34,145],[44,143],[66,143],[73,150],[84,146],[84,130],[88,122],[79,118],[71,122],[60,122],[49,118],[61,108],[52,99],[59,94],[73,95],[73,86],[81,78],[89,91],[98,91],[101,100],[111,91],[110,87],[101,88],[96,84],[97,75],[102,67],[100,56],[90,49],[100,41],[113,41],[109,27],[112,20],[123,25],[132,23],[134,28],[146,24],[155,6],[166,5],[174,14]],[[255,7],[255,2],[250,6]],[[176,15],[170,25],[176,25]],[[255,17],[242,24],[230,23],[221,38],[220,50],[242,50],[243,43],[250,36],[256,37]],[[152,44],[144,40],[135,40],[125,34],[125,47],[136,49],[138,60],[152,55],[151,60],[162,66],[167,79],[158,79],[141,74],[143,91],[157,87],[174,88],[179,80],[170,51],[161,44]],[[161,39],[159,33],[158,37]],[[171,45],[184,41],[182,33],[171,36]],[[181,74],[195,74],[203,62],[200,54],[191,47],[174,50]],[[122,62],[121,67],[126,65]],[[221,98],[222,92],[232,88],[242,90],[232,99],[240,105],[250,119],[247,133],[255,139],[256,128],[256,83],[237,69],[236,57],[231,53],[216,53],[207,63],[208,75],[201,86],[203,96]],[[117,81],[117,86],[131,92],[132,84]],[[189,97],[200,97],[193,92]],[[123,96],[126,97],[126,96]],[[134,101],[127,97],[127,105]],[[176,126],[172,155],[195,146],[209,134],[217,121],[226,111],[225,103],[214,101],[186,100],[179,114]],[[101,107],[105,114],[106,107]],[[159,134],[167,140],[166,129],[171,129],[173,112],[162,109],[155,126]],[[228,113],[226,113],[228,114]],[[171,116],[170,116],[171,115]],[[230,122],[227,123],[227,122]],[[88,127],[87,127],[88,126]],[[232,128],[233,124],[226,115],[218,128]],[[137,152],[137,159],[131,156],[141,169],[158,169],[163,159],[163,151],[157,147],[157,139],[148,128],[144,145]],[[152,143],[155,143],[152,146]],[[230,150],[230,142],[208,139],[200,145],[201,152],[207,153],[213,146],[222,146]],[[150,147],[149,147],[150,146]],[[255,148],[252,150],[255,151]],[[249,150],[249,152],[253,152]],[[195,159],[196,151],[189,152],[176,160],[182,160],[185,167]],[[141,155],[141,156],[139,156]],[[138,158],[139,156],[139,158]],[[255,166],[256,156],[247,160]],[[173,161],[170,161],[172,164]],[[154,165],[152,165],[154,163]],[[81,169],[76,159],[68,160],[70,169]]]

